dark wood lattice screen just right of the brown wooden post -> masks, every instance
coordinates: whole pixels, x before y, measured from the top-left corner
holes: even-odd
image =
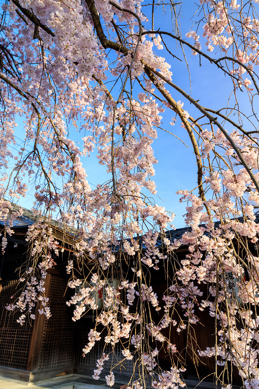
[[[37,368],[35,370],[73,365],[74,326],[68,313],[67,281],[52,275],[48,297],[52,317],[44,319]]]

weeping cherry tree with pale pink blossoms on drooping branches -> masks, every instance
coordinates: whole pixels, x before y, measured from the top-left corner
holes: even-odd
[[[195,328],[205,311],[217,330],[215,346],[200,355],[216,357],[220,366],[232,363],[244,387],[255,388],[258,1],[201,0],[197,24],[186,36],[180,36],[177,20],[176,35],[172,29],[165,34],[156,25],[152,2],[145,0],[19,0],[18,8],[16,3],[1,6],[2,252],[23,212],[14,203],[29,189],[35,223],[27,231],[30,255],[19,278],[22,291],[7,309],[20,312],[21,325],[38,313],[51,317],[45,280],[60,261],[55,219],[73,253],[66,265],[72,320],[96,312],[84,355],[105,334],[105,347],[122,345],[120,363],[138,359],[152,375],[153,388],[184,387],[185,368],[175,363],[181,350],[173,336]],[[188,58],[176,52],[178,44],[199,54],[193,58],[197,66],[208,61],[229,80],[231,95],[221,107],[205,108],[204,96],[200,101],[176,85],[173,61]],[[174,129],[190,137],[197,167],[195,189],[175,188],[187,202],[188,229],[174,241],[165,232],[173,228],[174,215],[156,204],[152,148],[162,129],[169,132],[167,115],[162,117],[169,110]],[[16,132],[20,120],[22,144]],[[107,172],[107,180],[96,186],[86,170],[94,156]],[[75,268],[82,274],[75,276]],[[161,301],[152,272],[159,277],[164,272]],[[116,283],[107,283],[115,274]],[[173,354],[170,370],[159,368],[162,349]],[[107,360],[108,353],[97,360],[95,379]],[[115,383],[113,367],[105,376],[108,386]],[[146,387],[136,377],[132,381],[129,388]]]

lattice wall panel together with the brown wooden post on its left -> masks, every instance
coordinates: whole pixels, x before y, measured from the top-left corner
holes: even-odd
[[[73,372],[74,326],[68,312],[67,280],[58,274],[48,274],[46,294],[50,299],[52,317],[38,315],[32,339],[28,370],[30,380]]]

